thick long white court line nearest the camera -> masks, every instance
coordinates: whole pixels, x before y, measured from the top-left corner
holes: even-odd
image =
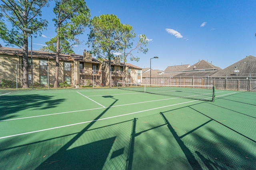
[[[58,128],[62,128],[62,127],[80,125],[80,124],[84,124],[84,123],[90,123],[90,122],[100,121],[100,120],[105,120],[105,119],[111,119],[111,118],[114,118],[114,117],[121,117],[121,116],[131,115],[131,114],[135,114],[135,113],[141,113],[141,112],[144,112],[144,111],[150,111],[150,110],[155,110],[155,109],[161,109],[161,108],[164,108],[164,107],[170,107],[170,106],[175,106],[175,105],[180,105],[180,104],[186,104],[186,103],[196,102],[196,101],[198,101],[198,100],[193,100],[193,101],[189,101],[189,102],[183,102],[183,103],[179,103],[179,104],[172,104],[172,105],[169,105],[169,106],[156,107],[156,108],[153,108],[153,109],[147,109],[147,110],[142,110],[142,111],[136,111],[136,112],[133,112],[133,113],[127,113],[127,114],[123,114],[123,115],[116,115],[116,116],[106,117],[106,118],[102,118],[102,119],[96,119],[96,120],[91,120],[91,121],[84,121],[84,122],[80,122],[80,123],[74,123],[74,124],[71,124],[71,125],[64,125],[64,126],[59,126],[59,127],[52,127],[52,128],[49,128],[49,129],[42,129],[42,130],[38,130],[38,131],[20,133],[20,134],[16,134],[16,135],[9,135],[9,136],[0,137],[0,139],[9,138],[9,137],[15,137],[15,136],[20,136],[20,135],[27,135],[27,134],[36,133],[36,132],[48,131],[48,130],[58,129]]]

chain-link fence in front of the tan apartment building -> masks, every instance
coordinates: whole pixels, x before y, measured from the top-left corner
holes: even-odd
[[[0,63],[0,84],[6,81],[8,81],[9,84],[12,84],[12,87],[2,86],[2,88],[22,88],[22,72],[22,64]],[[28,84],[30,88],[32,88],[32,82],[33,87],[53,88],[55,73],[55,66],[38,66],[33,64],[31,69],[31,66],[28,65]],[[71,67],[58,67],[58,86],[64,82],[73,88],[109,87],[110,84],[113,87],[117,86],[117,82],[128,81],[137,83],[138,78],[132,76],[134,75],[130,75],[130,72],[92,70],[92,68],[74,69]],[[138,77],[137,74],[135,76]]]

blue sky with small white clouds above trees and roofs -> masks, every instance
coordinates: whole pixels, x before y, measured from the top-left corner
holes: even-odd
[[[50,4],[42,13],[48,28],[33,39],[33,50],[56,35],[54,1]],[[150,67],[154,56],[159,58],[151,60],[151,67],[158,70],[199,60],[226,68],[248,55],[256,56],[255,0],[88,0],[86,4],[91,17],[114,14],[137,35],[146,35],[148,53],[134,52],[140,61],[127,61],[141,68]],[[86,42],[88,33],[87,28],[79,38]],[[86,45],[74,47],[80,55],[84,49],[90,50]]]

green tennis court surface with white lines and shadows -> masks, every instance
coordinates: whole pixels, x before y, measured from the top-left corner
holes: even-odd
[[[256,93],[0,90],[0,169],[256,168]]]

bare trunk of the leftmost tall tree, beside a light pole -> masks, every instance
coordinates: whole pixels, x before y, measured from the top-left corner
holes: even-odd
[[[22,63],[23,63],[23,81],[22,81],[22,88],[29,88],[28,86],[28,36],[24,32],[23,33],[23,58],[22,58]]]

